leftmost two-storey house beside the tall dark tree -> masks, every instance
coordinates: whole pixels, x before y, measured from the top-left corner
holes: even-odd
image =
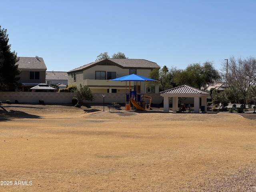
[[[22,84],[16,91],[30,91],[30,88],[45,83],[46,65],[41,57],[18,57],[19,61],[16,63],[21,73],[17,76]]]

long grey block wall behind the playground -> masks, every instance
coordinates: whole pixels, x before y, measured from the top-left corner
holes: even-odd
[[[84,101],[85,103],[103,103],[103,96],[105,104],[117,102],[118,104],[125,103],[124,93],[94,93],[94,101]],[[163,97],[160,94],[146,94],[152,97],[153,104],[160,104]],[[44,100],[44,103],[72,103],[74,93],[63,92],[0,92],[0,101],[5,103],[6,100],[10,100],[14,103],[18,100],[19,103],[39,103],[40,99]]]

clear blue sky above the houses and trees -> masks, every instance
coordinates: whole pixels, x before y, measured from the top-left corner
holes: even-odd
[[[8,0],[0,25],[17,56],[69,71],[102,52],[168,68],[256,56],[255,0]]]

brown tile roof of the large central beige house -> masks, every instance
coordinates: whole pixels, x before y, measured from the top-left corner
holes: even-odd
[[[148,61],[145,59],[112,59],[112,58],[108,58],[108,59],[103,59],[103,60],[96,61],[96,62],[91,62],[89,64],[80,66],[80,67],[70,70],[68,72],[84,70],[85,68],[89,68],[89,67],[97,65],[97,64],[105,63],[105,61],[113,62],[113,64],[116,64],[117,66],[120,66],[122,68],[160,68],[160,66],[158,64],[156,64],[155,62],[151,62],[151,61]]]

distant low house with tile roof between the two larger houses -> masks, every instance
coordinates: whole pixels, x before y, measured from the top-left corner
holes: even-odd
[[[62,71],[46,71],[45,83],[56,84],[60,89],[66,88],[68,85],[68,73]]]

